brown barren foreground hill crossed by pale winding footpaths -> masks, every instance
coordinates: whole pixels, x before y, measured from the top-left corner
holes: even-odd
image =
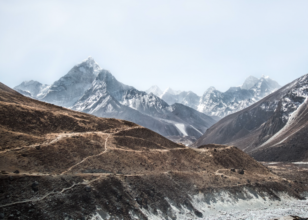
[[[0,83],[4,219],[184,219],[299,198],[241,150],[175,144],[129,121],[30,99]]]

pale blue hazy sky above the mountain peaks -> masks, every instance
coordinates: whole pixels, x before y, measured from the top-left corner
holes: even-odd
[[[0,0],[0,82],[51,84],[92,56],[146,90],[226,91],[308,73],[308,1]]]

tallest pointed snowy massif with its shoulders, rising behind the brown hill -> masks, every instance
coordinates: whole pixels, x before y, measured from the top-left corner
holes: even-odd
[[[95,116],[132,121],[164,136],[198,138],[217,121],[187,106],[170,106],[153,93],[118,82],[91,57],[50,86],[27,81],[14,89],[27,97]],[[153,87],[151,91],[159,89]]]

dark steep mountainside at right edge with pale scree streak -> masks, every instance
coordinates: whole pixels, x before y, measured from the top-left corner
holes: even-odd
[[[209,128],[192,146],[232,144],[259,161],[308,160],[308,75]]]

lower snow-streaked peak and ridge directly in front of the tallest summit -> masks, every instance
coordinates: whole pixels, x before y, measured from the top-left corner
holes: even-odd
[[[153,93],[124,85],[107,70],[97,74],[89,89],[70,108],[100,117],[129,120],[164,136],[200,137],[216,122],[188,106],[169,106]]]

